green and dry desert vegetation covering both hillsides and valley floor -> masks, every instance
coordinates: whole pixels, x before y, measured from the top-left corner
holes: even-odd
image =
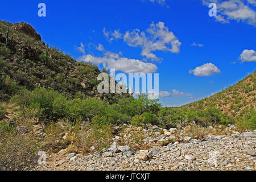
[[[133,150],[148,147],[141,144],[148,124],[163,129],[191,124],[256,129],[256,72],[204,100],[164,108],[143,95],[97,93],[96,77],[107,71],[80,63],[11,26],[0,22],[0,167],[5,170],[33,168],[40,150],[56,153],[66,148],[67,153],[87,154],[108,148],[116,127],[130,136],[120,144]],[[138,132],[125,130],[130,124]],[[191,133],[200,135],[196,127]]]

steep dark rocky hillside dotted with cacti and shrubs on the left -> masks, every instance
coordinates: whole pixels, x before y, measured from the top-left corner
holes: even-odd
[[[41,42],[27,23],[0,21],[0,100],[9,99],[19,86],[58,90],[69,97],[98,97],[115,102],[112,94],[97,93],[95,65],[81,63]],[[115,99],[126,97],[115,94]]]

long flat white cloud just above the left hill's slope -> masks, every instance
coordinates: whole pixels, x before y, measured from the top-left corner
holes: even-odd
[[[141,60],[129,59],[120,55],[121,52],[105,52],[103,57],[88,54],[79,57],[79,60],[98,65],[102,64],[104,68],[115,69],[125,73],[155,73],[158,69],[155,64],[144,63]]]

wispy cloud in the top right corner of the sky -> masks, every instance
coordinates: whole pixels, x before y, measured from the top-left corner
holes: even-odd
[[[256,26],[256,11],[250,6],[255,6],[254,0],[202,0],[203,4],[208,6],[209,3],[216,3],[217,13],[216,20],[221,23],[229,23],[229,20],[236,20],[237,22],[245,22]]]

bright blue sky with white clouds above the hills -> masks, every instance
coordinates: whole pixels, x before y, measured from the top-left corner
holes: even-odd
[[[163,106],[210,96],[256,68],[255,0],[3,1],[0,19],[29,23],[50,46],[100,68],[159,73]]]

